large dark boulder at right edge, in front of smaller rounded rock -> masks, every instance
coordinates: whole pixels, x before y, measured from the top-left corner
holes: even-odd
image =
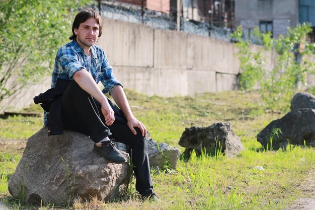
[[[279,130],[275,134],[275,131]],[[281,131],[281,132],[280,132]],[[296,109],[288,112],[280,119],[273,120],[257,135],[257,141],[266,149],[270,149],[270,136],[272,137],[272,148],[285,148],[291,145],[315,146],[315,110]]]

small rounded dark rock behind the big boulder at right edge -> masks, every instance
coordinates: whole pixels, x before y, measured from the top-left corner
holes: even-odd
[[[315,96],[305,92],[295,94],[291,100],[291,111],[304,108],[315,109]]]

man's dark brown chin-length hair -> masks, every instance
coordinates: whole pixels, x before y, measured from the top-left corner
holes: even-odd
[[[103,22],[101,16],[92,8],[87,8],[81,10],[74,18],[72,24],[72,36],[69,37],[70,40],[76,39],[76,35],[74,34],[74,29],[78,29],[81,23],[86,22],[89,18],[95,18],[96,22],[100,26],[99,37],[102,35]]]

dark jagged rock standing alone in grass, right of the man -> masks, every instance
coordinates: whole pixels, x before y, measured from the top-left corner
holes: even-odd
[[[244,150],[240,138],[234,134],[233,127],[228,122],[217,122],[208,127],[185,128],[179,145],[186,148],[185,156],[189,156],[193,150],[201,154],[205,148],[210,153],[220,150],[230,158]]]

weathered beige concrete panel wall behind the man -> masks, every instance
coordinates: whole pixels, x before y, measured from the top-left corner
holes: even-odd
[[[237,88],[240,62],[232,43],[105,18],[103,22],[97,45],[105,50],[116,78],[127,89],[170,97]],[[50,78],[28,87],[0,104],[0,112],[30,105],[34,96],[49,87]]]

